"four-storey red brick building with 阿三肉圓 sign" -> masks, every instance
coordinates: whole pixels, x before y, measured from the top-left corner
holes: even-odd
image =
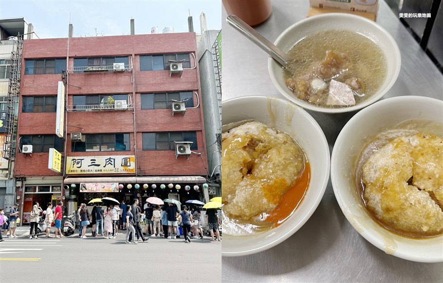
[[[60,198],[70,211],[105,195],[202,199],[195,52],[195,33],[26,40],[14,169],[23,211]],[[63,156],[60,173],[48,169],[50,148]]]

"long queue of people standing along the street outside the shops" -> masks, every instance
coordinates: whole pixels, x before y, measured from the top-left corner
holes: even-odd
[[[30,239],[37,238],[37,221],[40,215],[44,215],[46,222],[45,237],[51,238],[50,227],[52,223],[55,226],[55,237],[64,237],[61,233],[62,220],[62,206],[63,202],[59,201],[58,205],[53,211],[53,203],[49,202],[45,211],[40,207],[38,202],[35,202],[31,211],[31,227]],[[87,238],[86,235],[88,225],[92,224],[92,237],[97,237],[101,234],[105,239],[115,239],[119,229],[126,231],[126,243],[137,244],[138,241],[143,242],[149,240],[147,236],[164,237],[167,239],[180,238],[180,229],[184,242],[191,243],[191,239],[203,238],[203,229],[201,226],[201,211],[200,207],[193,205],[191,211],[186,205],[181,207],[181,211],[174,203],[165,203],[162,206],[146,203],[142,211],[139,206],[139,200],[134,199],[132,204],[126,204],[123,200],[120,205],[109,204],[106,209],[100,203],[94,204],[91,213],[85,203],[81,203],[77,211],[79,219],[79,237]],[[17,237],[15,229],[17,227],[18,217],[18,203],[16,203],[5,214],[4,210],[0,208],[0,242],[4,241],[2,234],[5,234],[9,229],[9,237]],[[207,223],[209,224],[211,241],[221,241],[219,234],[219,225],[221,225],[220,218],[217,211],[207,210]],[[145,222],[146,237],[142,233],[141,222]],[[34,231],[34,234],[33,234]],[[214,239],[214,236],[216,239]]]

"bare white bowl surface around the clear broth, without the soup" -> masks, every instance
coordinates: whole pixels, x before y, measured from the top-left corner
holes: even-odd
[[[355,33],[362,34],[371,39],[385,55],[387,60],[387,72],[385,81],[381,84],[377,93],[372,95],[367,100],[360,102],[354,106],[343,108],[325,108],[309,103],[308,101],[298,99],[292,91],[286,86],[284,82],[283,69],[274,59],[269,58],[268,69],[272,83],[288,100],[300,105],[301,107],[313,111],[324,113],[343,113],[350,112],[366,107],[373,102],[379,100],[382,96],[388,92],[391,86],[395,83],[400,72],[401,57],[400,50],[398,49],[395,40],[392,36],[382,27],[375,22],[366,19],[364,17],[343,14],[332,13],[324,14],[314,17],[308,17],[303,19],[294,25],[287,28],[274,42],[274,44],[283,50],[289,52],[295,43],[303,39],[309,34],[319,33],[326,30],[346,30]]]

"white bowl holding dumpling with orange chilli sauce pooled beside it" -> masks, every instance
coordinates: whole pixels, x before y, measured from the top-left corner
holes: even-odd
[[[314,213],[329,147],[315,119],[290,101],[250,96],[222,107],[222,256],[248,255],[283,242]]]

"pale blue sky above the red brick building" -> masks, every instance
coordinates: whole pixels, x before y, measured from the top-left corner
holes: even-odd
[[[221,29],[221,0],[0,0],[0,18],[24,17],[39,38],[68,37],[70,18],[74,37],[130,34],[131,18],[135,34],[151,33],[155,26],[159,33],[165,27],[184,33],[189,13],[200,34],[202,12],[208,30]]]

